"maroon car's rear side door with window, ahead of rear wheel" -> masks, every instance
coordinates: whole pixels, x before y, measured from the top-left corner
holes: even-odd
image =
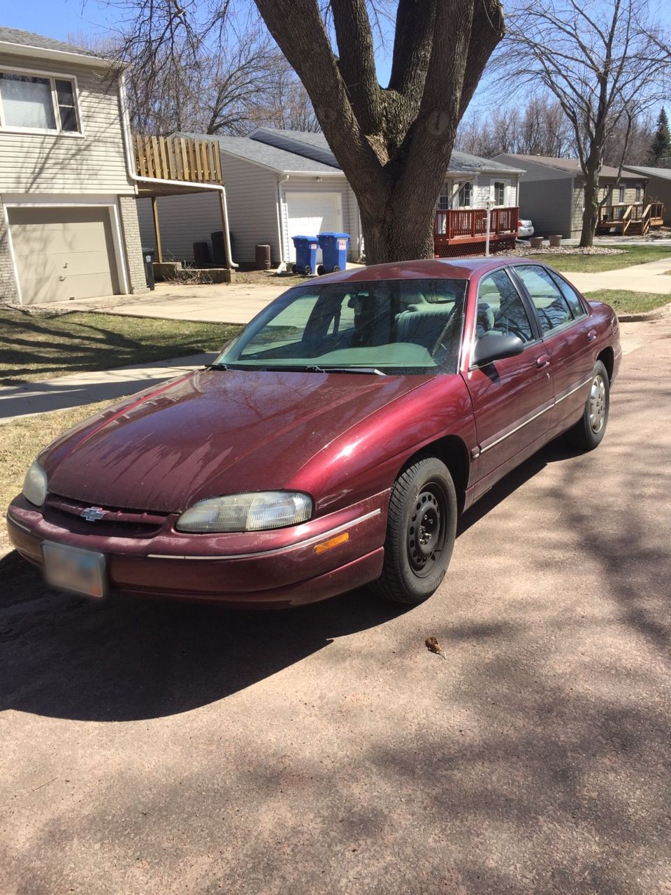
[[[515,264],[512,270],[539,321],[555,386],[550,428],[561,429],[580,417],[587,400],[594,366],[590,341],[596,331],[590,329],[580,296],[554,270],[541,264]]]

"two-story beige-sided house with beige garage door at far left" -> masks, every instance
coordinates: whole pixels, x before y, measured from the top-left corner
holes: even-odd
[[[0,297],[146,291],[120,78],[89,50],[0,28]]]

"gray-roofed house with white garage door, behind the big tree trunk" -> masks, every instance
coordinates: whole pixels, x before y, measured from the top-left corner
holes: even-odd
[[[295,259],[292,236],[327,230],[349,233],[349,259],[361,258],[358,204],[323,134],[259,128],[247,137],[208,139],[219,144],[235,262],[253,263],[254,247],[266,243],[274,265],[290,264]],[[488,198],[502,210],[505,207],[516,228],[521,174],[514,166],[454,152],[437,200],[437,243],[451,242],[453,212],[483,209]],[[193,260],[192,243],[211,243],[210,234],[221,230],[214,197],[162,197],[157,209],[166,260]],[[154,227],[149,201],[140,200],[138,214],[142,243],[151,245]],[[468,215],[461,217],[463,223]],[[456,238],[464,241],[470,236]],[[473,251],[472,241],[469,251]]]

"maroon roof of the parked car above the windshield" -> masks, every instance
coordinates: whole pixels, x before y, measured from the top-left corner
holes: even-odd
[[[341,270],[335,274],[321,277],[319,282],[344,283],[352,280],[386,280],[386,279],[471,279],[480,277],[489,270],[495,270],[506,264],[539,263],[531,258],[506,258],[495,255],[491,258],[458,258],[429,259],[419,261],[398,261],[392,264],[371,264],[370,267],[357,267]]]

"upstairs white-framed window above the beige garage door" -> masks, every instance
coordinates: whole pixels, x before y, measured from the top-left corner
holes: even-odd
[[[28,131],[79,131],[73,82],[47,75],[0,72],[0,126]]]

